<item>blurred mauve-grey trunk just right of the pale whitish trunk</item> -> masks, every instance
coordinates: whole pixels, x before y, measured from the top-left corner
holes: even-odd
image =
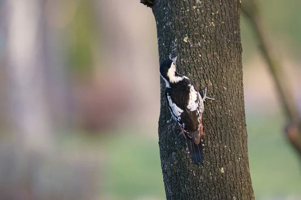
[[[74,116],[74,100],[67,71],[61,21],[68,1],[42,0],[41,37],[43,37],[43,68],[47,104],[55,132],[71,129]],[[67,4],[68,5],[68,4]],[[65,9],[64,9],[65,8]]]

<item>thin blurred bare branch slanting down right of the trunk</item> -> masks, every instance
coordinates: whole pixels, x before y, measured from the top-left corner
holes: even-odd
[[[275,82],[283,111],[290,121],[285,128],[286,136],[301,156],[301,119],[298,113],[297,103],[291,92],[291,86],[287,81],[286,73],[278,58],[271,51],[272,48],[269,45],[267,31],[258,15],[259,11],[256,1],[244,0],[241,10],[255,31],[262,56],[266,60],[269,71]]]

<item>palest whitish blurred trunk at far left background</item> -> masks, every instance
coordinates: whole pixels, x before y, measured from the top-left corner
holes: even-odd
[[[43,0],[8,0],[7,75],[11,126],[26,147],[50,145],[47,107]]]

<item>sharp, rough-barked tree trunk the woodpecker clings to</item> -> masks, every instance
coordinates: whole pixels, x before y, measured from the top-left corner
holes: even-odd
[[[203,165],[192,164],[161,79],[159,145],[167,199],[254,199],[247,149],[240,0],[141,0],[157,23],[160,62],[208,87]],[[159,70],[159,66],[158,66]]]

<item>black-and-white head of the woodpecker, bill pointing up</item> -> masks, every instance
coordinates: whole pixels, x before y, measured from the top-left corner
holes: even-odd
[[[171,83],[177,83],[183,79],[183,76],[176,72],[176,61],[178,56],[167,59],[160,65],[160,75],[166,82],[166,86],[170,87]]]

